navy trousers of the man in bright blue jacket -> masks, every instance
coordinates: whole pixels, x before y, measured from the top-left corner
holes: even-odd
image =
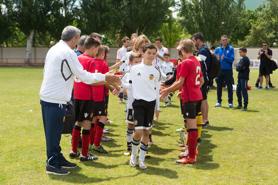
[[[233,70],[232,69],[225,69],[221,70],[219,75],[216,78],[217,84],[217,102],[221,103],[222,99],[222,87],[223,82],[226,82],[228,88],[228,102],[229,104],[233,104]]]

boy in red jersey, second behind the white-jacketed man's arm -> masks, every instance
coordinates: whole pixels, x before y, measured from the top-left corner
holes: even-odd
[[[100,45],[94,60],[95,72],[100,72],[103,74],[109,72],[108,64],[103,60],[104,55],[105,55],[104,47]],[[97,121],[96,125],[94,125],[94,123],[92,123],[91,125],[91,127],[95,127],[95,139],[93,145],[90,146],[90,150],[107,154],[109,152],[107,150],[104,150],[103,146],[100,145],[101,138],[103,136],[103,128],[105,122],[107,121],[107,114],[106,114],[107,109],[106,109],[104,85],[95,85],[94,90],[95,90],[94,117],[98,116],[99,120]]]

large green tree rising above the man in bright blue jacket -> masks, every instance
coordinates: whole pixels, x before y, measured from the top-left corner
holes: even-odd
[[[245,12],[243,0],[181,0],[179,7],[181,24],[190,34],[201,32],[207,46],[219,41],[221,35],[234,35]]]

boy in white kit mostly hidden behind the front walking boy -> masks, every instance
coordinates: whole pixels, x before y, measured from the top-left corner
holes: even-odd
[[[141,53],[132,53],[129,56],[129,64],[130,66],[132,66],[133,64],[137,64],[140,63],[142,60],[142,55]],[[125,72],[122,76],[121,81],[124,83],[128,83],[128,79],[129,79],[129,70],[127,72]],[[119,92],[123,92],[124,88],[120,88],[120,89],[116,89],[113,91],[113,94],[118,93],[117,91],[119,90]],[[127,113],[126,113],[126,122],[128,123],[128,128],[126,130],[126,141],[127,141],[127,150],[126,152],[124,152],[125,156],[128,156],[131,154],[131,142],[132,142],[132,138],[133,138],[133,130],[134,130],[134,121],[133,121],[133,107],[132,107],[132,103],[134,101],[134,97],[133,97],[133,90],[130,89],[126,89],[127,95],[128,95],[128,100],[127,100]]]

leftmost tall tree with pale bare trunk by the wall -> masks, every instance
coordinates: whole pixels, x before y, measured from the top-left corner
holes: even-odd
[[[32,44],[35,32],[47,30],[47,20],[50,14],[50,0],[5,0],[10,15],[17,23],[19,29],[27,37],[26,59],[27,63],[32,56]]]

